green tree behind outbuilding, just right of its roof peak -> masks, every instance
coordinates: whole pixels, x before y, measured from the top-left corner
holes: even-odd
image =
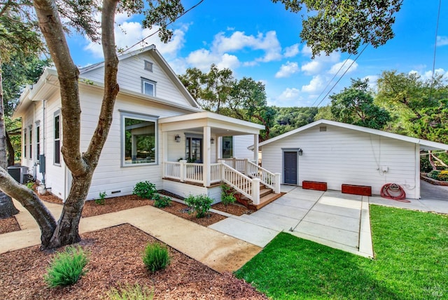
[[[331,114],[336,121],[381,130],[391,117],[373,102],[368,93],[368,79],[351,79],[350,88],[331,95]]]

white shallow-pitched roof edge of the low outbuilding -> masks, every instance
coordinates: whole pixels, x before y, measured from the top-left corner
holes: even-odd
[[[339,127],[339,128],[346,128],[346,129],[350,129],[350,130],[356,130],[358,132],[365,132],[365,133],[369,133],[371,135],[379,135],[381,137],[389,137],[391,139],[398,139],[400,141],[414,143],[414,144],[419,144],[420,146],[425,146],[427,149],[440,149],[440,150],[448,151],[448,145],[447,144],[442,144],[442,143],[437,143],[437,142],[430,142],[430,141],[428,141],[426,139],[419,139],[417,137],[408,137],[406,135],[398,135],[398,134],[392,133],[392,132],[386,132],[386,131],[382,131],[382,130],[362,127],[362,126],[358,126],[358,125],[346,124],[346,123],[341,123],[341,122],[337,122],[337,121],[330,121],[330,120],[325,120],[325,119],[314,121],[313,123],[309,123],[309,124],[304,125],[304,126],[302,126],[300,128],[297,128],[295,130],[291,130],[291,131],[285,132],[285,133],[283,133],[283,135],[279,135],[279,136],[273,137],[272,139],[267,139],[266,141],[261,142],[258,146],[261,148],[262,146],[265,146],[267,144],[271,144],[272,142],[276,142],[279,139],[284,139],[286,137],[289,137],[290,135],[295,135],[296,133],[302,132],[304,130],[307,130],[307,129],[312,128],[312,127],[314,127],[316,125],[321,125],[321,124],[332,125],[332,126],[336,126],[336,127]]]

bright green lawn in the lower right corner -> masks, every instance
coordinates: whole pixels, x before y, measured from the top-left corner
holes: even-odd
[[[448,217],[370,206],[374,259],[280,233],[235,273],[272,299],[448,299]]]

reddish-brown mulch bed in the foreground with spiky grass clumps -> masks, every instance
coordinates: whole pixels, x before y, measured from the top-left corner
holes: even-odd
[[[43,275],[54,254],[38,246],[1,254],[0,299],[102,299],[111,288],[125,284],[149,287],[154,299],[267,299],[232,274],[216,273],[171,247],[171,264],[148,273],[141,254],[148,243],[160,242],[130,224],[82,238],[80,245],[90,257],[88,271],[71,287],[45,285]]]

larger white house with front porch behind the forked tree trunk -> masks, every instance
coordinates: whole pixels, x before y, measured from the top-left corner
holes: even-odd
[[[155,46],[119,59],[120,93],[87,200],[101,192],[128,195],[137,182],[146,180],[180,196],[207,193],[218,200],[218,183],[230,182],[226,176],[233,172],[218,160],[246,158],[240,164],[257,160],[258,151],[246,147],[255,143],[256,148],[264,126],[202,111]],[[98,121],[103,74],[103,62],[80,69],[81,151],[87,149]],[[22,93],[13,117],[22,118],[22,165],[48,191],[65,199],[71,173],[60,152],[64,143],[60,109],[57,73],[46,69]],[[252,184],[257,179],[242,176],[240,182],[251,183],[237,189],[259,198],[259,187]]]

